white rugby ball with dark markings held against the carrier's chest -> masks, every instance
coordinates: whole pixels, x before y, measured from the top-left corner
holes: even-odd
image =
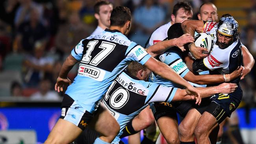
[[[198,35],[195,36],[195,45],[206,48],[204,54],[208,54],[213,48],[213,37],[207,33],[198,33]]]

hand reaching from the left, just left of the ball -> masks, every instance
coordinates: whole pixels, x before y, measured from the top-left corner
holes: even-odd
[[[182,50],[182,52],[184,52],[186,50],[184,45],[187,43],[194,43],[194,41],[194,37],[192,37],[189,33],[185,33],[184,35],[175,39],[175,44],[178,48],[180,48],[180,50]]]

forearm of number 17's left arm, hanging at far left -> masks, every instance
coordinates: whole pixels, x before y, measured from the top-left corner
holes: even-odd
[[[67,59],[64,61],[61,70],[59,72],[60,78],[67,78],[67,75],[69,74],[69,71],[72,69],[72,67],[77,63],[78,61],[72,57],[70,54]]]

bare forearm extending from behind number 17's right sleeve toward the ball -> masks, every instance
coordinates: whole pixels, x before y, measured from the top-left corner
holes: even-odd
[[[168,50],[172,46],[176,46],[175,39],[157,42],[156,44],[148,47],[146,51],[152,57],[156,57],[157,55],[163,54],[166,50]]]

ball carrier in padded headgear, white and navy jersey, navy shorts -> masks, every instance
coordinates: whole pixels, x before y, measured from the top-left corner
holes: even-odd
[[[238,37],[238,24],[234,18],[228,14],[223,15],[219,22],[203,22],[201,20],[184,21],[182,23],[184,32],[194,34],[197,32],[205,32],[215,37],[214,47],[210,55],[202,60],[193,63],[193,71],[210,70],[212,74],[226,74],[234,71],[237,66],[241,66],[243,55],[241,52],[241,42]],[[189,44],[190,48],[194,48],[194,44]],[[229,79],[228,77],[226,79]],[[232,82],[237,83],[235,79]],[[238,107],[243,92],[240,88],[231,94],[215,94],[209,100],[210,105],[201,108],[202,116],[197,117],[197,125],[195,127],[195,136],[199,144],[210,143],[208,137],[210,132]],[[196,116],[194,116],[196,117]],[[191,127],[193,129],[193,127]]]

